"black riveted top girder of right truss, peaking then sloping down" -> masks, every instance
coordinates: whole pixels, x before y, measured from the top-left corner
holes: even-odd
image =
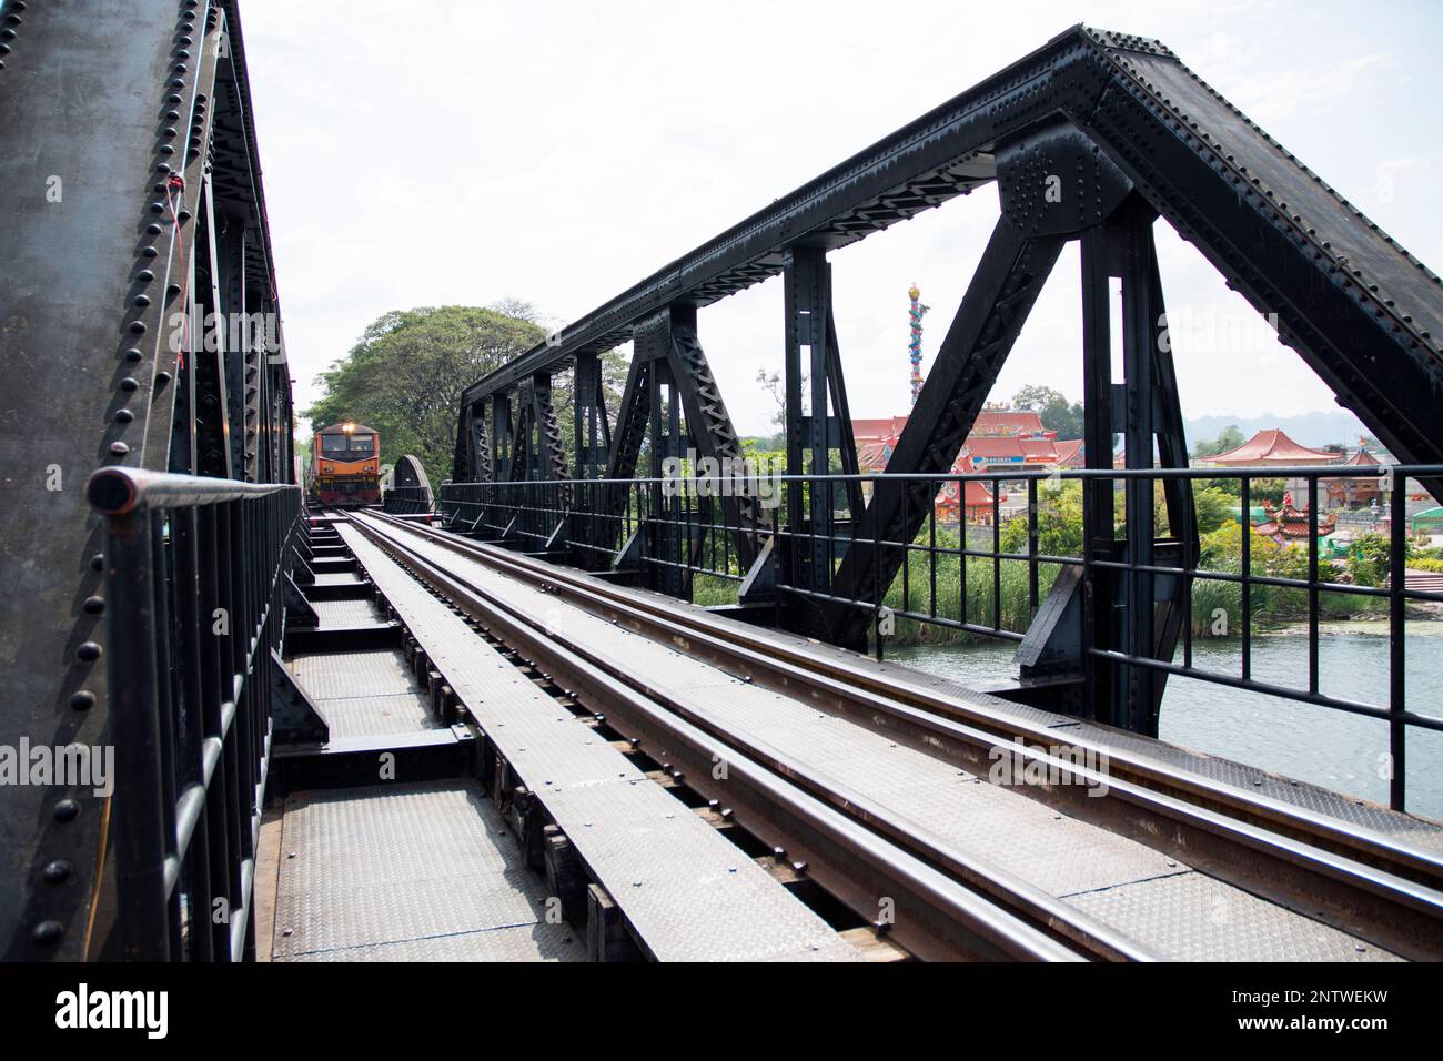
[[[606,349],[659,307],[701,306],[996,178],[999,143],[1065,118],[1264,313],[1401,459],[1443,460],[1439,277],[1163,45],[1075,26],[670,263],[466,391]],[[1430,484],[1437,491],[1439,484]]]

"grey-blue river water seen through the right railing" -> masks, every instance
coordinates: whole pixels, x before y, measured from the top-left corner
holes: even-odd
[[[1410,622],[1404,638],[1407,704],[1443,716],[1443,622]],[[1414,632],[1417,631],[1417,632]],[[890,648],[887,660],[954,681],[986,683],[1014,676],[1014,647],[986,641]],[[1179,651],[1177,661],[1182,663]],[[1388,638],[1381,624],[1336,624],[1319,637],[1319,689],[1325,694],[1385,706]],[[1193,642],[1193,665],[1241,671],[1235,639]],[[1253,638],[1253,677],[1307,687],[1307,638],[1297,631]],[[1388,803],[1388,725],[1349,712],[1212,681],[1169,677],[1159,736],[1175,745],[1247,762],[1349,795]],[[1407,808],[1443,821],[1443,733],[1408,728]]]

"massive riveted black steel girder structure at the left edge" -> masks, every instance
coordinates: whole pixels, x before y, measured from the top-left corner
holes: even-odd
[[[209,238],[202,247],[195,238],[203,191],[209,186],[214,198],[222,183],[248,182],[254,244],[247,276],[273,290],[264,199],[234,1],[32,3],[7,33],[0,344],[12,385],[0,393],[7,469],[0,730],[32,746],[97,748],[110,742],[105,560],[84,484],[102,465],[166,468],[179,283],[189,284],[198,257],[208,279],[218,277]],[[222,82],[232,88],[218,88]],[[216,123],[237,139],[234,150],[212,156]],[[237,172],[242,163],[244,175]],[[183,189],[170,186],[173,176],[183,176]],[[224,309],[229,284],[219,276],[218,292],[212,286],[203,300]],[[193,293],[188,286],[186,302]],[[235,455],[225,435],[237,420],[222,397],[229,365],[211,362],[208,378],[216,400],[211,437],[218,439],[208,449],[222,466]],[[267,387],[258,394],[264,406],[257,404],[267,436],[257,478],[291,481],[284,364],[268,368]],[[186,439],[193,432],[189,411],[182,430]],[[87,785],[7,788],[0,808],[6,957],[104,956],[114,915],[108,808],[107,797]]]

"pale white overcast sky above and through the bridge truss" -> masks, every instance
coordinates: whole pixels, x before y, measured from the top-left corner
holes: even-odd
[[[532,303],[579,318],[1076,22],[1160,39],[1404,247],[1443,268],[1443,3],[244,0],[297,407],[392,309]],[[853,416],[909,404],[997,217],[988,186],[830,256]],[[1335,409],[1165,221],[1183,414]],[[1075,245],[997,385],[1081,398]],[[782,281],[701,310],[739,430],[782,355]]]

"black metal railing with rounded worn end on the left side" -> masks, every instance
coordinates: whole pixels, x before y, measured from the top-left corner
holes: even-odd
[[[105,517],[118,954],[241,960],[300,488],[105,468],[87,497]]]

